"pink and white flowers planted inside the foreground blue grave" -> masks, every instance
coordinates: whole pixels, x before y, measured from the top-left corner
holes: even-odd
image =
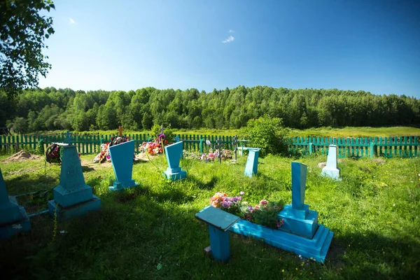
[[[240,196],[228,197],[226,193],[216,193],[211,197],[210,204],[212,207],[240,216],[246,221],[265,225],[269,228],[278,229],[283,225],[283,219],[279,221],[277,218],[283,208],[280,202],[261,200],[258,204],[251,206],[248,202],[242,201],[242,195],[245,195],[245,193],[240,192],[239,194]]]

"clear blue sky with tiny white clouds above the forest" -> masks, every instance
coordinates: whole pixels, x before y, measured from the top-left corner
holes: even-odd
[[[420,1],[56,0],[40,87],[269,85],[420,98]]]

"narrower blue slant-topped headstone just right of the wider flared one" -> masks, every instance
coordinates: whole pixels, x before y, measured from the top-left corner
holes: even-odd
[[[167,179],[172,181],[181,180],[187,177],[187,172],[181,170],[179,167],[179,160],[181,160],[183,141],[175,144],[165,146],[165,155],[168,161],[168,168],[165,170]]]

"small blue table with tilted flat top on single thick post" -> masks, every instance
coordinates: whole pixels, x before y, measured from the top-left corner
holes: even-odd
[[[195,214],[195,218],[209,224],[210,247],[213,258],[221,262],[227,261],[230,255],[229,232],[227,230],[240,218],[212,206],[202,209]]]

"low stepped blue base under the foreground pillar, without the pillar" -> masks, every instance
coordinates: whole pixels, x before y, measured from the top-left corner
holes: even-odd
[[[334,235],[328,228],[319,225],[314,238],[307,239],[289,232],[274,230],[244,220],[239,220],[229,230],[239,235],[262,239],[269,245],[293,252],[297,255],[302,255],[304,258],[312,258],[316,262],[321,263],[325,261],[328,248],[330,248],[332,235]]]

